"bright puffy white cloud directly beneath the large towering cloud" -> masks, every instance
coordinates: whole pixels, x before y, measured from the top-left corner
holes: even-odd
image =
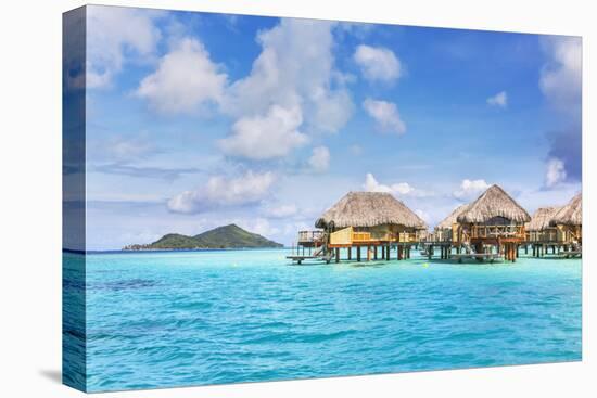
[[[257,161],[281,157],[308,142],[308,137],[297,130],[302,123],[298,107],[272,105],[265,116],[240,118],[232,126],[232,134],[218,143],[231,156]]]

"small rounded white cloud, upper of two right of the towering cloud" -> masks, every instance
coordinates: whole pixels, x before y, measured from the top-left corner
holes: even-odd
[[[401,77],[401,61],[390,49],[360,44],[353,57],[369,80],[389,82]]]

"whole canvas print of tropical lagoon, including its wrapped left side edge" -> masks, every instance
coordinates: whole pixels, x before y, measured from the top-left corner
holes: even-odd
[[[582,359],[580,37],[88,5],[63,380]]]

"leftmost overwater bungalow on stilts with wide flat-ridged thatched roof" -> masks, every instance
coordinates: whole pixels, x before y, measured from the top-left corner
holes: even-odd
[[[421,231],[427,231],[425,222],[404,203],[382,192],[350,192],[335,205],[323,213],[315,222],[319,231],[302,231],[298,247],[319,246],[309,256],[289,256],[301,262],[303,259],[323,256],[329,262],[340,261],[340,249],[346,249],[346,258],[352,259],[353,248],[356,260],[365,258],[390,259],[391,248],[396,248],[397,259],[410,257],[411,246],[418,243]],[[317,243],[314,242],[317,237]]]

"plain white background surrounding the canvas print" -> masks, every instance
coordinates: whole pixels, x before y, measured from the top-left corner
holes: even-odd
[[[587,397],[597,393],[595,308],[597,36],[588,1],[145,0],[103,1],[182,10],[305,16],[584,37],[582,363],[506,367],[302,382],[178,388],[106,397]],[[61,13],[69,0],[3,2],[0,47],[0,396],[71,397],[61,367]],[[593,26],[592,26],[593,25]],[[593,252],[590,252],[593,251]]]

